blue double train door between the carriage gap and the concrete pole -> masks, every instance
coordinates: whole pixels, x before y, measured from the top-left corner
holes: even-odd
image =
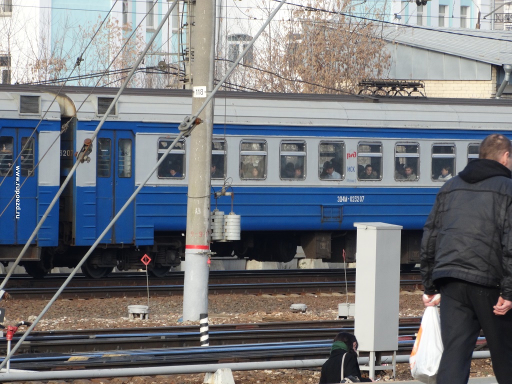
[[[134,135],[100,131],[96,148],[96,236],[99,236],[135,188]],[[135,203],[123,212],[101,243],[133,244]]]

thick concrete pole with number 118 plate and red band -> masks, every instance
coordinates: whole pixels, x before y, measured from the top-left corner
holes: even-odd
[[[195,3],[195,4],[194,4]],[[194,98],[192,116],[213,89],[215,54],[215,0],[189,2],[193,20],[190,74]],[[185,280],[183,283],[183,321],[199,321],[208,313],[208,252],[210,250],[210,165],[214,101],[199,115],[203,122],[190,135],[188,172],[187,229],[185,242]]]

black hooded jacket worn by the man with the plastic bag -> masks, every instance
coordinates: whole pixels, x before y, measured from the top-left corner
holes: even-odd
[[[454,278],[500,287],[512,301],[511,176],[497,161],[476,159],[441,187],[421,241],[425,293]]]

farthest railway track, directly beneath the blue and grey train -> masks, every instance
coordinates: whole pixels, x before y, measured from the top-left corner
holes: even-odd
[[[7,290],[14,298],[48,300],[66,280],[59,275],[42,280],[27,276],[14,276]],[[86,279],[77,276],[60,298],[111,298],[172,296],[183,294],[183,272],[172,272],[165,278],[152,278],[146,284],[145,273],[117,273],[105,279]],[[419,273],[402,274],[402,290],[421,289]],[[305,294],[346,293],[355,291],[355,270],[264,270],[264,271],[211,271],[209,294]]]

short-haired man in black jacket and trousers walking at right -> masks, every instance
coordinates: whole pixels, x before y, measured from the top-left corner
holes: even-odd
[[[512,144],[487,136],[479,159],[439,190],[421,241],[425,306],[439,304],[437,384],[466,384],[483,329],[499,383],[512,382]]]

